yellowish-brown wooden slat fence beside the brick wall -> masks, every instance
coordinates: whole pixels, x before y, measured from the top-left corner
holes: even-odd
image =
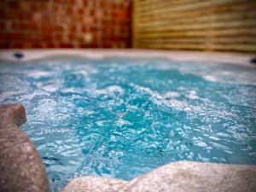
[[[133,47],[256,53],[256,0],[134,0]]]

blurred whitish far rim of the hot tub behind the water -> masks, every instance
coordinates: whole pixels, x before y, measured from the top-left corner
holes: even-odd
[[[218,62],[255,67],[250,63],[253,55],[249,54],[158,49],[0,49],[0,61],[18,61],[14,57],[16,52],[21,52],[25,55],[20,61],[40,60],[55,55],[80,56],[90,59],[102,59],[105,57],[163,57],[172,61]]]

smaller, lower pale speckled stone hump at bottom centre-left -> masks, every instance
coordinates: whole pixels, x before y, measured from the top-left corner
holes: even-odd
[[[74,178],[61,192],[115,192],[127,183],[121,179],[106,177]]]

